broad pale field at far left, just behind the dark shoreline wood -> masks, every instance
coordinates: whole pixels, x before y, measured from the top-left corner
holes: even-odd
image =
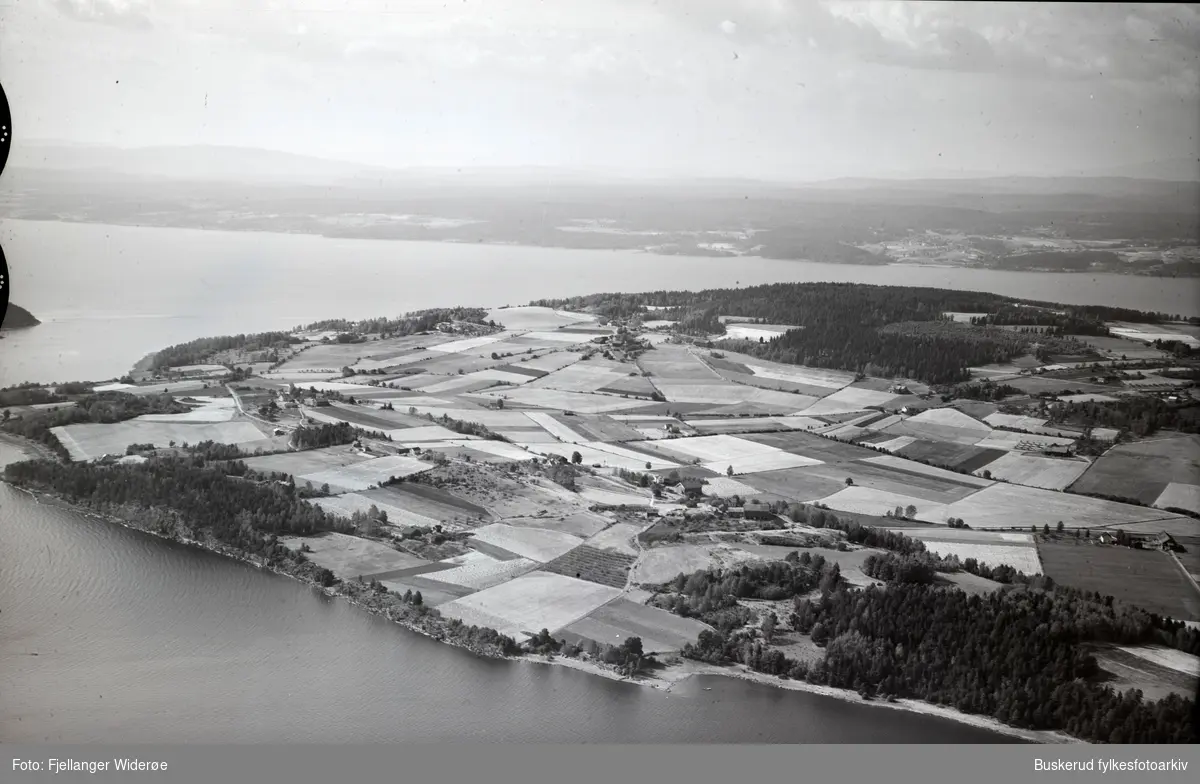
[[[52,427],[50,432],[66,447],[72,460],[92,460],[102,455],[124,455],[130,444],[247,444],[265,439],[248,421],[170,423],[130,419],[112,425],[85,424]]]

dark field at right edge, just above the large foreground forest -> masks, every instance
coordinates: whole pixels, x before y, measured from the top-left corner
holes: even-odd
[[[1045,573],[1181,621],[1200,621],[1200,593],[1164,552],[1070,541],[1038,544]]]

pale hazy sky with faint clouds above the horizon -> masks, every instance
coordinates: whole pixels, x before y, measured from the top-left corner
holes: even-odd
[[[814,180],[1195,157],[1200,7],[0,0],[22,139]]]

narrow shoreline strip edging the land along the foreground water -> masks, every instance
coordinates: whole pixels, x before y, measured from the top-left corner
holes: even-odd
[[[40,451],[37,448],[41,447],[41,444],[37,444],[36,442],[20,443],[24,441],[26,439],[19,439],[7,433],[0,433],[0,443],[8,443],[10,445],[16,447],[18,450],[22,451],[22,454],[26,456],[30,454],[30,451],[34,451],[35,454]],[[389,622],[396,623],[397,626],[408,629],[409,632],[414,632],[416,634],[420,634],[421,636],[442,642],[443,645],[449,645],[488,659],[498,659],[506,662],[524,662],[529,664],[541,664],[552,666],[557,665],[586,672],[589,675],[608,678],[610,681],[623,681],[634,686],[638,686],[642,688],[652,688],[664,693],[670,693],[676,684],[697,676],[722,676],[740,681],[750,681],[754,683],[758,683],[761,686],[781,688],[790,692],[804,692],[809,694],[818,694],[822,696],[839,699],[846,702],[858,702],[858,704],[869,702],[875,707],[887,707],[892,710],[907,711],[911,713],[919,713],[923,716],[932,716],[937,718],[949,719],[953,722],[958,722],[960,724],[966,724],[968,726],[974,726],[978,729],[997,732],[1000,735],[1006,735],[1008,737],[1015,737],[1036,743],[1086,743],[1086,741],[1072,737],[1069,735],[1066,735],[1064,732],[1058,732],[1052,730],[1025,730],[1020,728],[1014,728],[1007,724],[1002,724],[1001,722],[997,722],[991,717],[964,713],[953,707],[934,705],[931,702],[924,702],[920,700],[899,699],[895,702],[887,702],[883,700],[868,701],[863,700],[858,695],[858,693],[852,692],[850,689],[841,689],[836,687],[808,683],[806,681],[794,681],[791,678],[779,678],[776,676],[769,676],[761,672],[755,672],[752,670],[746,669],[745,665],[740,664],[719,666],[714,664],[704,664],[701,662],[691,662],[688,659],[683,659],[679,664],[665,665],[661,670],[655,670],[652,674],[638,677],[629,677],[625,675],[620,675],[614,668],[610,668],[607,665],[592,660],[572,659],[560,654],[556,654],[553,657],[546,657],[535,653],[526,653],[521,656],[500,656],[487,651],[479,651],[469,646],[457,644],[452,640],[448,640],[440,635],[433,634],[430,630],[421,628],[419,624],[407,621],[406,618],[396,617],[388,609],[380,609],[368,605],[367,603],[362,602],[359,597],[354,596],[352,592],[346,590],[344,586],[347,586],[348,583],[344,580],[340,580],[335,586],[322,587],[317,585],[314,580],[308,579],[306,575],[293,574],[288,570],[268,565],[265,562],[257,558],[256,556],[240,551],[235,547],[230,547],[228,545],[222,545],[215,541],[202,541],[188,537],[174,537],[158,531],[151,531],[146,527],[138,525],[133,520],[128,520],[116,515],[92,511],[84,507],[73,504],[70,501],[66,501],[65,498],[56,496],[54,493],[49,493],[46,491],[29,490],[26,487],[20,487],[11,483],[4,483],[4,484],[7,484],[10,487],[13,487],[19,492],[29,495],[34,499],[34,502],[38,504],[43,503],[43,499],[46,499],[46,503],[58,509],[79,514],[85,517],[90,517],[92,520],[100,520],[102,522],[118,525],[132,531],[138,531],[140,533],[145,533],[156,537],[158,539],[164,539],[167,541],[174,541],[178,544],[193,546],[226,558],[230,558],[233,561],[246,563],[264,571],[271,571],[276,575],[295,580],[298,582],[310,586],[311,588],[319,591],[326,597],[341,598],[346,600],[348,604],[356,606],[361,610],[365,610],[371,615],[382,616],[386,618]]]

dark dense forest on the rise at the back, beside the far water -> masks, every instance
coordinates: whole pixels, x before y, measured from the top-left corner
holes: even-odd
[[[1057,328],[1085,334],[1105,334],[1105,319],[1154,323],[1166,316],[1118,307],[1024,303],[983,292],[955,292],[904,286],[862,283],[773,283],[703,292],[647,292],[642,294],[592,294],[563,300],[538,300],[568,310],[589,310],[610,318],[641,312],[647,305],[666,307],[658,318],[678,321],[677,329],[694,335],[720,335],[721,316],[791,324],[799,329],[772,341],[722,343],[730,351],[787,364],[852,370],[870,376],[906,376],[929,383],[970,379],[967,367],[1004,363],[1037,351],[1084,352],[1086,347],[1066,337],[1050,342],[1042,335],[1004,330],[997,324],[972,325],[949,322],[944,313],[1003,312],[1013,309],[1062,311]],[[1050,319],[1046,319],[1050,321]]]

